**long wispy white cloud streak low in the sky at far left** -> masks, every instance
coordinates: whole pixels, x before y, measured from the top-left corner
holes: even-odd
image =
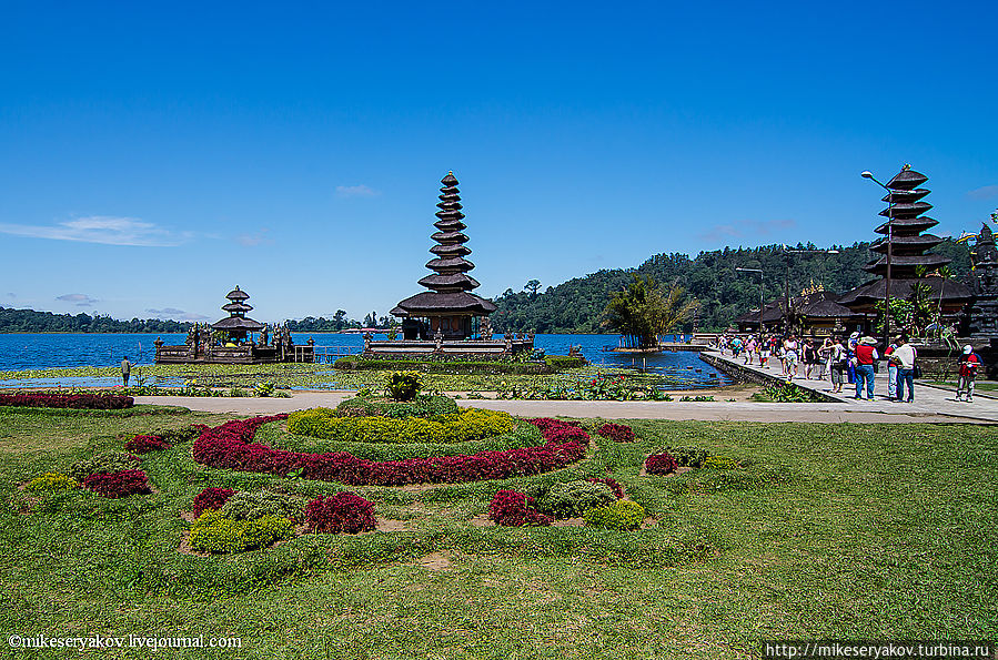
[[[48,226],[0,223],[0,233],[30,238],[144,247],[172,247],[188,242],[193,236],[191,232],[171,232],[137,217],[110,215],[77,217]]]

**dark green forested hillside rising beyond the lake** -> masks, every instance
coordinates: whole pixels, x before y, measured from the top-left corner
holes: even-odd
[[[798,245],[793,250],[815,250]],[[873,277],[863,270],[870,261],[869,243],[836,245],[838,254],[826,252],[787,253],[782,245],[738,247],[700,252],[695,258],[686,254],[656,254],[637,268],[599,271],[576,277],[545,292],[512,290],[495,298],[498,309],[492,315],[496,332],[598,333],[603,309],[609,295],[629,282],[633,273],[653,276],[659,284],[676,281],[696,297],[702,331],[720,331],[737,316],[759,305],[758,273],[738,272],[736,267],[763,270],[763,295],[768,301],[784,293],[789,274],[790,295],[810,284],[845,292]],[[950,270],[962,278],[970,272],[967,245],[947,238],[934,252],[952,258]],[[692,323],[686,331],[692,329]]]

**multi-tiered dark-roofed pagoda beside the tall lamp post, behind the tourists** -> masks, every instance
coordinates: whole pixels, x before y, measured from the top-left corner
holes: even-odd
[[[931,217],[923,215],[933,207],[923,199],[930,191],[919,187],[928,181],[924,174],[905,165],[901,171],[887,183],[888,193],[884,201],[887,209],[880,215],[887,222],[875,231],[884,237],[870,245],[870,251],[879,255],[864,270],[877,275],[873,280],[847,292],[839,303],[869,319],[876,316],[876,305],[887,294],[887,277],[890,280],[890,297],[910,299],[911,286],[916,282],[928,285],[933,301],[937,301],[946,319],[955,321],[960,309],[970,299],[970,291],[956,280],[931,275],[950,262],[941,254],[929,252],[942,242],[933,234],[925,234],[938,224]],[[889,263],[889,275],[888,275]],[[918,271],[925,268],[929,276],[919,277]]]

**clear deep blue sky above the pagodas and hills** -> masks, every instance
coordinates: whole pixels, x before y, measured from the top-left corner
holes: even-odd
[[[386,314],[461,180],[485,296],[998,206],[994,2],[3,3],[0,305]]]

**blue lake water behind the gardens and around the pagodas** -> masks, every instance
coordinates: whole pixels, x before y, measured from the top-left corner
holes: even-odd
[[[168,345],[182,344],[187,335],[145,334],[0,334],[0,372],[44,369],[53,367],[117,366],[127,356],[137,365],[151,365],[155,355],[153,342],[161,337]],[[309,337],[316,346],[330,346],[360,352],[364,345],[361,335],[294,333],[295,344],[304,344]],[[502,335],[496,335],[502,337]],[[386,339],[375,335],[375,339]],[[617,335],[537,335],[534,345],[548,355],[567,355],[571,346],[582,346],[582,354],[597,365],[608,367],[647,368],[648,372],[692,380],[693,386],[726,385],[724,374],[699,359],[696,352],[677,351],[646,357],[609,353],[617,345]],[[82,385],[60,378],[62,385]],[[0,385],[6,383],[0,382]],[[48,385],[39,383],[36,385]],[[56,384],[54,382],[51,384]]]

